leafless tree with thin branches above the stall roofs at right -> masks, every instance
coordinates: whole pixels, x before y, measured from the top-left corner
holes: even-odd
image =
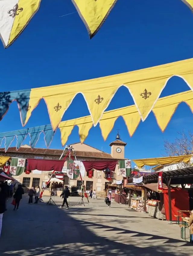
[[[184,131],[178,132],[177,137],[174,142],[168,140],[164,141],[164,151],[165,156],[179,156],[179,155],[191,155],[193,148],[193,132],[188,131],[188,134],[185,134]],[[178,168],[185,168],[191,166],[190,163],[179,163],[177,164]]]

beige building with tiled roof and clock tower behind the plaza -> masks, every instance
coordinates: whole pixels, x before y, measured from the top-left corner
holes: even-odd
[[[111,180],[107,180],[106,172],[101,170],[93,171],[93,177],[89,178],[87,176],[87,172],[85,171],[85,175],[83,175],[82,179],[84,181],[84,185],[86,186],[86,190],[95,189],[97,194],[103,194],[107,184],[116,183],[116,180],[122,180],[123,177],[120,175],[119,171],[119,161],[120,159],[125,159],[125,146],[126,143],[121,140],[113,141],[110,144],[111,154],[100,151],[96,148],[93,148],[86,144],[75,143],[72,144],[74,148],[74,152],[76,154],[77,160],[80,161],[99,161],[99,160],[117,160],[117,165],[115,171],[112,172]],[[47,149],[47,148],[34,148],[31,149],[28,145],[23,145],[16,151],[16,148],[9,148],[5,153],[4,148],[0,148],[1,155],[7,155],[10,157],[18,157],[18,158],[36,158],[36,159],[51,159],[51,160],[59,160],[63,150],[61,149]],[[66,160],[69,158],[67,157]],[[66,167],[67,162],[65,162],[64,166]],[[30,174],[22,173],[20,176],[14,176],[14,178],[19,181],[24,186],[30,188],[32,185],[37,187],[43,187],[45,182],[49,180],[52,172],[41,171],[41,170],[33,170]],[[80,177],[77,180],[70,180],[66,173],[60,173],[63,175],[63,181],[65,185],[77,186],[78,189],[81,187],[81,179]],[[59,173],[57,175],[60,175]]]

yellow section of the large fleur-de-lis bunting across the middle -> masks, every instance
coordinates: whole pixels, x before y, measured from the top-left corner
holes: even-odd
[[[167,81],[174,75],[184,79],[192,89],[193,58],[85,81],[33,88],[30,91],[29,109],[24,125],[40,99],[43,98],[48,108],[52,128],[55,130],[74,97],[82,93],[93,125],[96,126],[115,92],[122,85],[130,91],[139,115],[144,121],[160,97]]]

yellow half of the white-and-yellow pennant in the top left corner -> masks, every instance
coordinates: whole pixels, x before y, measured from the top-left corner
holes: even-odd
[[[9,38],[8,47],[23,32],[30,22],[31,18],[39,10],[41,0],[19,0],[18,4],[13,6],[11,10],[14,18],[13,27]],[[11,18],[11,17],[10,17]]]

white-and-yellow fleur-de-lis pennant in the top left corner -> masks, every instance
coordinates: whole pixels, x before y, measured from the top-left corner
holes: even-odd
[[[39,10],[41,0],[0,1],[0,38],[9,47]]]

